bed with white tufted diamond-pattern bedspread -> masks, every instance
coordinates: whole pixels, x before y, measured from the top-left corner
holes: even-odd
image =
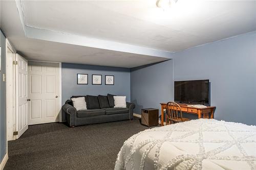
[[[256,126],[197,119],[127,139],[115,169],[256,169]]]

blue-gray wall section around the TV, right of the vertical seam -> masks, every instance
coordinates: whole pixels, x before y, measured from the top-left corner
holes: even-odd
[[[174,55],[174,80],[209,79],[215,118],[256,125],[256,33]]]

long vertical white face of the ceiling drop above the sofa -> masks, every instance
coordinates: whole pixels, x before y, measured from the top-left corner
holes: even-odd
[[[39,40],[67,43],[73,45],[101,48],[105,50],[113,50],[125,53],[134,53],[147,56],[172,58],[172,52],[155,50],[131,44],[125,44],[115,41],[107,41],[96,38],[89,38],[69,33],[55,32],[52,30],[39,29],[26,26],[27,37]]]

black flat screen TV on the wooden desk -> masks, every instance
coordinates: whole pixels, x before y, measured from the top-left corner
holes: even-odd
[[[175,81],[174,101],[209,105],[209,80]]]

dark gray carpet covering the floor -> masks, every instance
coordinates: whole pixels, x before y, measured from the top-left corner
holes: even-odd
[[[4,169],[114,169],[123,142],[145,129],[138,118],[75,128],[62,123],[29,126],[8,142]]]

